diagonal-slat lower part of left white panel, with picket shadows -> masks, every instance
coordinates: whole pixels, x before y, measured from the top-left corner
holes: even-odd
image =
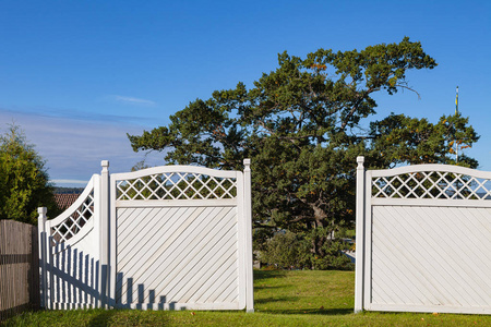
[[[127,209],[117,220],[119,303],[238,303],[236,207]]]

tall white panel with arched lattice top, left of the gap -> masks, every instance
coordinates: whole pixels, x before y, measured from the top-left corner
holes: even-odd
[[[159,167],[112,174],[111,191],[117,306],[246,307],[242,172]]]

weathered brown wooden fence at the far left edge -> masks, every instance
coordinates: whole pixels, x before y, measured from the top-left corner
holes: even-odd
[[[39,308],[37,227],[0,220],[0,322]]]

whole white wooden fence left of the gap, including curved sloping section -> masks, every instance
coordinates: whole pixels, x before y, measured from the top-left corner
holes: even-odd
[[[65,213],[39,211],[41,305],[252,312],[250,160],[108,166]]]

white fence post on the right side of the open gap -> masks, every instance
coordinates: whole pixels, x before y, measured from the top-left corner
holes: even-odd
[[[364,270],[364,157],[357,157],[355,313],[363,310]]]

